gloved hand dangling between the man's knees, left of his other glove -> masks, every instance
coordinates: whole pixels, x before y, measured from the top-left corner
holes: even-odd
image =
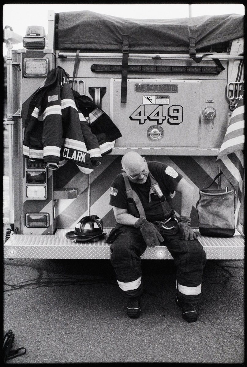
[[[135,222],[135,227],[140,228],[142,237],[148,247],[159,246],[160,242],[164,241],[157,228],[144,217],[139,218],[138,221]]]

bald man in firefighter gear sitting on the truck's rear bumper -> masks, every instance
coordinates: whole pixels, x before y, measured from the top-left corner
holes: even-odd
[[[188,322],[197,321],[206,254],[191,228],[193,187],[172,167],[126,153],[122,173],[110,188],[116,224],[107,243],[117,283],[128,297],[127,315],[138,318],[143,293],[141,255],[148,247],[166,246],[176,267],[175,302]],[[181,216],[171,197],[181,193]],[[168,205],[169,203],[169,205]]]

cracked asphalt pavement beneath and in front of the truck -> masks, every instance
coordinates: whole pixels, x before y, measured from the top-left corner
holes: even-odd
[[[175,304],[172,260],[142,260],[139,319],[109,260],[4,259],[4,331],[30,363],[243,363],[244,261],[208,260],[196,323]]]

